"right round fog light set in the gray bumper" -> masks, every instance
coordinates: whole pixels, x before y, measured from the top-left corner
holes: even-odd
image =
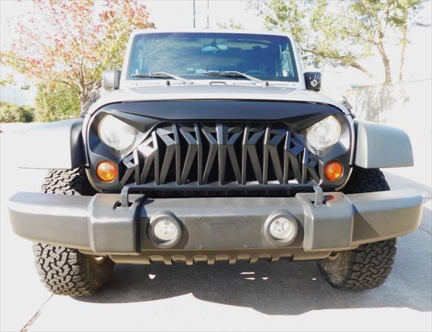
[[[282,210],[271,214],[264,224],[265,237],[276,246],[286,246],[297,237],[299,226],[290,212]]]

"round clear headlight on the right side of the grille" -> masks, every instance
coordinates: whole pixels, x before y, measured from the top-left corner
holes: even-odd
[[[308,144],[317,150],[334,145],[341,137],[341,124],[334,116],[329,116],[306,129]]]

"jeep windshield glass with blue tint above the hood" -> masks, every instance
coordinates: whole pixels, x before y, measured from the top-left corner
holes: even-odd
[[[208,75],[212,71],[238,71],[261,80],[299,82],[288,37],[247,33],[136,35],[126,79],[154,80],[138,74],[167,72],[189,80],[245,80]]]

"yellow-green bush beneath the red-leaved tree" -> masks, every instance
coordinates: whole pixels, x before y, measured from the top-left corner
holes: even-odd
[[[77,118],[81,111],[79,97],[66,84],[40,84],[35,99],[37,121],[50,122]]]

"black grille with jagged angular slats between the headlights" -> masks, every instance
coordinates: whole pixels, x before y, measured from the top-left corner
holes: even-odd
[[[319,160],[301,136],[281,124],[164,124],[122,163],[122,185],[263,187],[319,182]]]

